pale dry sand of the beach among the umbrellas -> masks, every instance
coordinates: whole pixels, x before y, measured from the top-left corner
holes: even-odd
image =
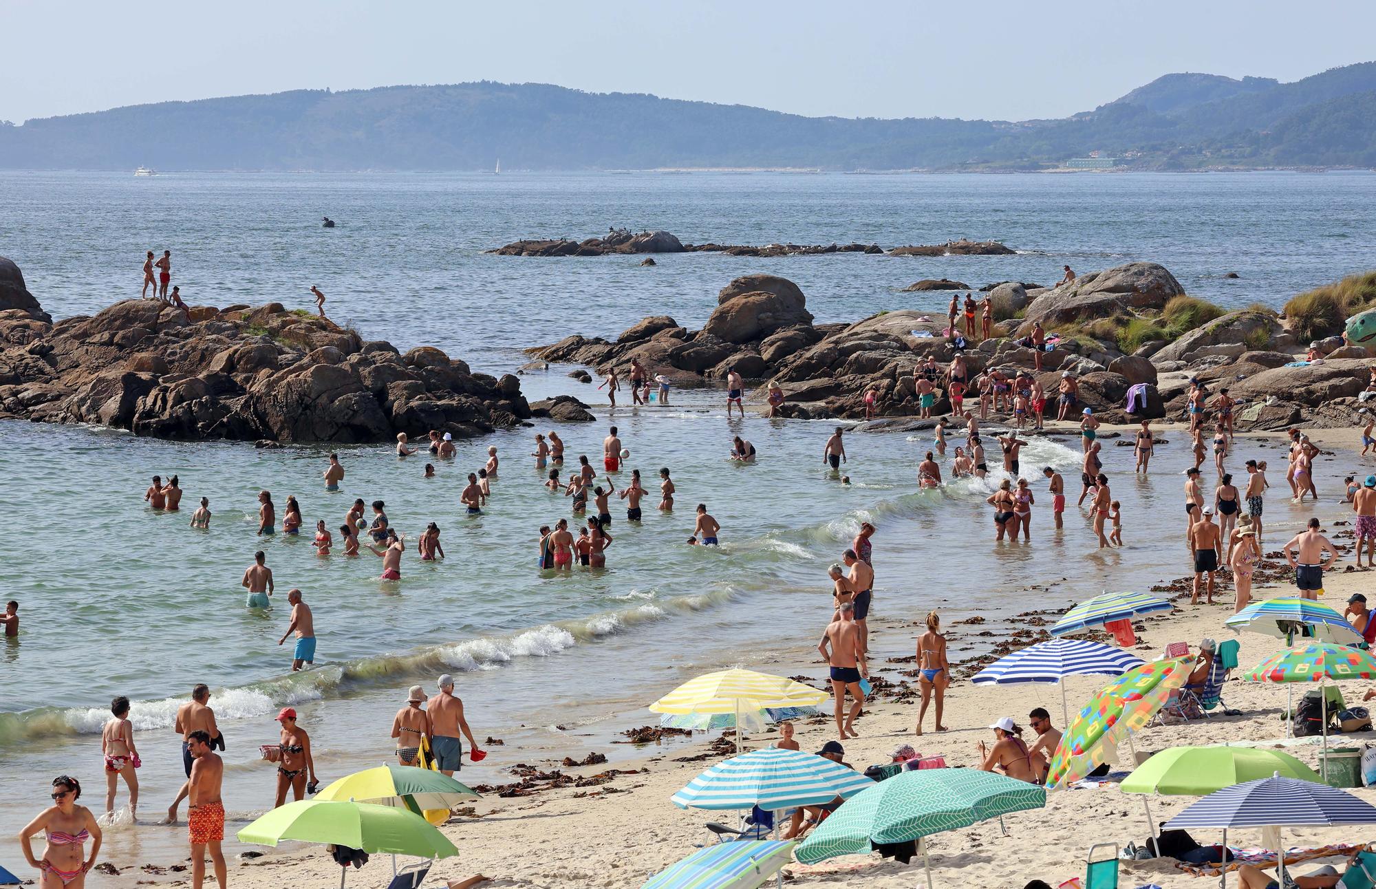
[[[1170,433],[1170,432],[1167,432]],[[1284,482],[1282,482],[1284,483]],[[1320,515],[1329,522],[1344,520],[1340,506],[1324,502]],[[1068,523],[1075,522],[1068,515]],[[1266,549],[1274,552],[1284,542],[1273,533]],[[1288,537],[1288,534],[1287,534]],[[1183,561],[1183,553],[1182,553]],[[1368,590],[1365,571],[1340,567],[1328,575],[1324,603],[1339,610],[1353,592]],[[1163,578],[1163,582],[1167,578]],[[1267,590],[1254,590],[1254,600],[1270,595],[1285,595],[1288,585],[1274,585]],[[956,590],[951,590],[956,592]],[[1234,637],[1222,622],[1233,611],[1232,588],[1222,588],[1214,606],[1190,606],[1187,593],[1178,599],[1176,611],[1164,617],[1150,617],[1139,623],[1137,654],[1145,659],[1160,656],[1167,644],[1187,641],[1193,650],[1200,639]],[[956,612],[956,611],[952,611]],[[958,614],[958,612],[956,612]],[[903,658],[912,652],[912,639],[919,632],[923,615],[885,617],[872,623],[872,673],[893,683],[905,683],[904,670],[911,663],[894,663],[889,658]],[[1036,621],[1032,621],[1036,623]],[[1035,628],[1029,628],[1035,629]],[[1055,685],[973,685],[960,678],[958,659],[967,655],[971,644],[987,645],[978,633],[982,626],[960,623],[947,628],[952,647],[952,663],[958,681],[947,694],[944,721],[951,731],[932,732],[927,714],[927,733],[914,736],[916,700],[879,698],[866,709],[857,728],[861,738],[845,742],[846,761],[857,768],[886,762],[894,747],[911,743],[923,756],[943,756],[952,767],[977,767],[978,740],[992,740],[985,727],[1000,716],[1011,716],[1026,724],[1032,707],[1046,707],[1057,728],[1061,725],[1061,699]],[[1244,669],[1255,665],[1282,647],[1281,640],[1258,633],[1237,636],[1243,648],[1240,662]],[[820,680],[820,662],[808,658],[799,645],[797,659],[783,658],[775,663],[753,665],[779,674],[801,674]],[[1068,685],[1073,711],[1104,685],[1105,677],[1075,677]],[[820,683],[819,683],[820,684]],[[914,683],[915,688],[915,683]],[[1342,684],[1348,703],[1359,702],[1365,688],[1361,684]],[[667,688],[665,689],[667,691]],[[1296,689],[1296,695],[1303,689]],[[1150,727],[1135,736],[1137,750],[1149,753],[1183,745],[1249,743],[1271,746],[1285,743],[1285,749],[1317,768],[1317,739],[1285,742],[1285,725],[1280,718],[1285,707],[1287,689],[1281,685],[1252,685],[1230,681],[1223,694],[1227,706],[1241,710],[1241,716],[1215,716],[1182,725]],[[1031,729],[1026,738],[1033,733]],[[611,765],[566,767],[548,750],[531,750],[523,760],[537,772],[552,771],[577,779],[571,786],[539,790],[530,795],[502,798],[487,794],[472,806],[471,816],[457,816],[443,827],[460,849],[453,859],[438,861],[435,877],[460,881],[475,874],[493,878],[491,886],[637,886],[652,872],[711,842],[703,824],[713,820],[731,822],[727,812],[699,812],[676,808],[669,797],[698,775],[703,768],[724,758],[725,753],[711,749],[718,732],[698,733],[692,742],[674,740],[665,747],[647,746],[640,758],[614,760]],[[798,725],[797,738],[804,750],[816,750],[835,736],[830,713],[826,718],[805,720]],[[747,746],[768,745],[776,733],[747,738]],[[1339,746],[1359,746],[1369,740],[1365,732],[1340,738]],[[567,747],[567,745],[566,745]],[[596,753],[599,750],[588,750]],[[509,751],[508,751],[509,753]],[[582,756],[582,753],[575,754]],[[1124,747],[1126,756],[1126,747]],[[544,758],[541,758],[544,757]],[[614,769],[611,772],[610,769]],[[484,773],[486,776],[486,773]],[[600,776],[600,778],[597,778]],[[610,776],[610,779],[608,779]],[[461,779],[477,780],[464,772]],[[509,780],[517,780],[512,776]],[[534,780],[535,786],[549,782]],[[556,782],[566,783],[566,782]],[[579,786],[582,784],[582,786]],[[1376,793],[1357,790],[1358,795],[1376,802]],[[1143,797],[1123,794],[1109,784],[1094,790],[1058,790],[1050,794],[1044,811],[1009,816],[1007,835],[1002,835],[998,822],[941,834],[930,844],[933,877],[937,885],[977,888],[1021,886],[1031,879],[1044,879],[1053,886],[1084,875],[1084,856],[1095,842],[1141,845],[1148,837]],[[1192,802],[1192,797],[1150,797],[1152,815],[1161,822]],[[1218,837],[1197,834],[1201,842],[1218,842]],[[1337,842],[1362,842],[1369,837],[1347,828],[1293,830],[1285,833],[1291,846],[1320,846]],[[1230,835],[1233,845],[1260,845],[1258,831]],[[1320,861],[1322,863],[1322,861]],[[1310,864],[1299,867],[1304,872]],[[383,885],[389,870],[385,856],[374,856],[363,871],[352,874],[351,885]],[[127,874],[131,871],[125,871]],[[832,859],[816,866],[791,864],[787,875],[795,885],[817,886],[872,886],[889,889],[923,885],[921,860],[899,864],[881,860],[878,855]],[[250,860],[231,860],[231,882],[241,886],[277,888],[283,885],[303,889],[325,889],[338,883],[337,866],[323,850],[308,846],[267,850]],[[1203,878],[1182,872],[1170,860],[1124,861],[1121,885],[1154,883],[1165,889],[1174,886],[1210,885]]]

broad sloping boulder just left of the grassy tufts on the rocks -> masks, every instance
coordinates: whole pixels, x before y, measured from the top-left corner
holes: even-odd
[[[1022,325],[1043,328],[1069,323],[1082,318],[1105,318],[1130,310],[1160,311],[1165,303],[1185,293],[1185,288],[1164,266],[1128,263],[1080,275],[1071,283],[1039,294],[1031,301]]]

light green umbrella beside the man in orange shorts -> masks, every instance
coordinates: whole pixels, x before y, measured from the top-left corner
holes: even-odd
[[[369,855],[391,852],[422,859],[458,855],[454,844],[420,815],[370,802],[297,800],[256,819],[238,833],[238,838],[264,846],[297,839],[350,846]]]

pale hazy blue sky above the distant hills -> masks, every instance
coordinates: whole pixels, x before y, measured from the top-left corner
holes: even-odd
[[[842,117],[1090,110],[1170,72],[1376,59],[1376,3],[0,0],[0,118],[471,80]]]

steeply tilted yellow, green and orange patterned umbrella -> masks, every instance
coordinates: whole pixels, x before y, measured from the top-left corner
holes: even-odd
[[[1124,738],[1146,725],[1171,692],[1185,685],[1192,658],[1165,658],[1128,670],[1090,699],[1055,749],[1047,789],[1079,780],[1106,762]]]

